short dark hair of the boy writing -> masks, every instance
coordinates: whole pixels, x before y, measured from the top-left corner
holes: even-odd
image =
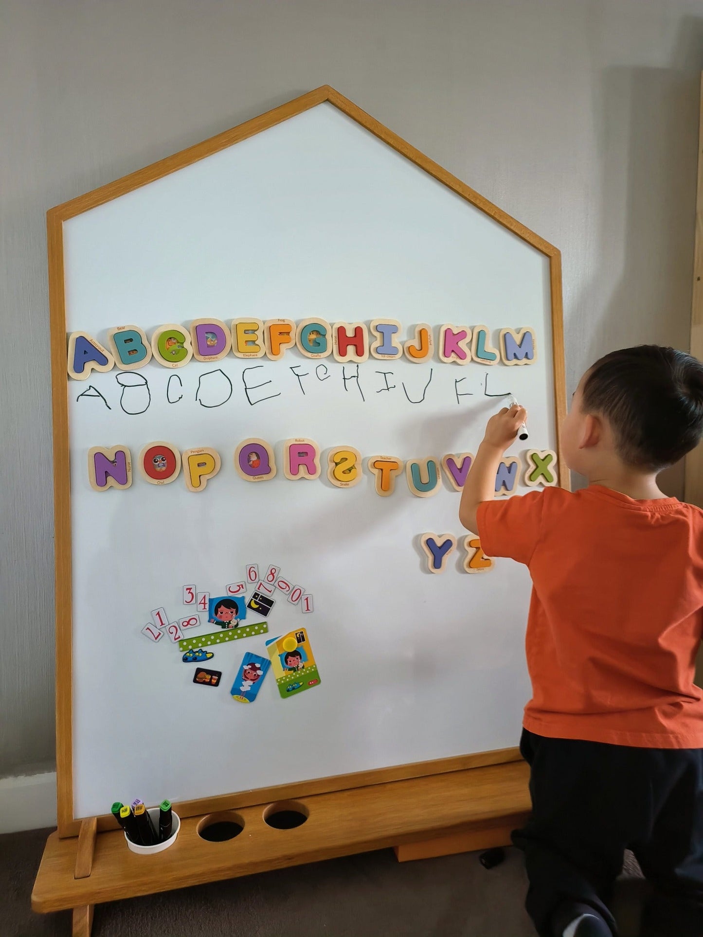
[[[659,345],[611,351],[591,367],[583,409],[606,417],[623,462],[659,471],[700,441],[703,364]]]

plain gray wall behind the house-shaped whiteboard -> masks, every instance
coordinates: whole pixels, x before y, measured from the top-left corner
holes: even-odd
[[[54,753],[47,208],[332,84],[561,247],[572,390],[687,346],[701,67],[681,0],[0,0],[0,776]]]

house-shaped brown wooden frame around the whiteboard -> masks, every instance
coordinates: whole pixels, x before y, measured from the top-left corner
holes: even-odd
[[[276,126],[297,114],[308,111],[323,102],[329,102],[363,126],[401,156],[426,171],[433,178],[456,192],[503,228],[534,247],[549,259],[549,281],[552,326],[552,362],[554,372],[554,399],[557,427],[557,449],[561,421],[566,415],[566,387],[563,358],[563,327],[561,307],[561,254],[544,238],[535,234],[515,218],[501,211],[496,205],[465,185],[456,176],[441,168],[434,160],[420,153],[410,143],[402,140],[392,130],[383,126],[348,98],[343,97],[329,85],[322,85],[306,95],[297,97],[272,111],[266,112],[244,124],[225,130],[209,140],[196,143],[180,153],[167,156],[151,166],[132,172],[115,182],[101,186],[92,192],[57,205],[47,213],[47,239],[49,253],[49,308],[52,335],[52,415],[53,415],[53,491],[55,526],[55,609],[56,609],[56,776],[57,815],[60,837],[78,836],[83,818],[76,817],[73,810],[73,767],[72,767],[72,648],[71,648],[71,529],[70,529],[70,467],[68,446],[67,379],[67,328],[64,282],[63,225],[70,218],[118,199],[128,192],[146,186],[172,172],[227,149],[234,143],[247,140],[262,130]],[[703,327],[702,327],[703,328]],[[331,336],[330,336],[331,341]],[[560,458],[560,483],[569,486],[568,470]],[[247,805],[262,804],[281,797],[309,796],[345,790],[369,784],[381,784],[400,779],[417,778],[456,771],[469,766],[481,766],[514,761],[516,749],[490,751],[479,754],[459,755],[439,761],[413,765],[381,768],[333,778],[322,778],[274,788],[205,797],[176,805],[181,817],[234,809]],[[97,818],[97,828],[111,828],[110,814]]]

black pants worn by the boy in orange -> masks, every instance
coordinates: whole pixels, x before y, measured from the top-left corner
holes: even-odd
[[[652,885],[643,937],[703,937],[703,749],[635,749],[523,731],[531,818],[513,841],[525,853],[526,907],[552,937],[565,900],[607,909],[625,848]]]

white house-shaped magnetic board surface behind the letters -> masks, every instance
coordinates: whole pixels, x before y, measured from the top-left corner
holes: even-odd
[[[418,322],[486,324],[494,343],[502,327],[531,326],[539,349],[518,367],[369,358],[358,379],[354,364],[295,350],[178,371],[152,361],[135,372],[148,394],[121,387],[116,369],[68,381],[74,816],[516,745],[530,695],[526,569],[499,559],[468,575],[456,551],[427,573],[418,535],[465,534],[459,495],[442,480],[416,498],[400,476],[380,498],[366,468],[339,490],[325,451],[351,445],[365,466],[475,452],[501,406],[486,393],[506,392],[530,410],[528,445],[555,449],[548,258],[324,103],[67,220],[64,272],[67,331],[106,347],[124,324],[151,335],[205,316],[321,316],[397,319],[402,338]],[[245,381],[262,385],[255,402]],[[284,439],[316,440],[321,478],[279,469],[245,482],[233,453],[247,437],[272,444],[279,467]],[[145,483],[137,455],[157,439],[217,449],[219,474],[197,494],[182,476]],[[134,481],[95,492],[87,451],[115,444],[130,448]],[[220,687],[194,685],[178,646],[141,629],[151,609],[186,614],[185,584],[223,594],[249,562],[280,566],[315,611],[281,599],[268,634],[213,648],[205,666]],[[253,705],[234,702],[244,652],[265,657],[265,639],[301,625],[321,684],[281,699],[271,675]]]

